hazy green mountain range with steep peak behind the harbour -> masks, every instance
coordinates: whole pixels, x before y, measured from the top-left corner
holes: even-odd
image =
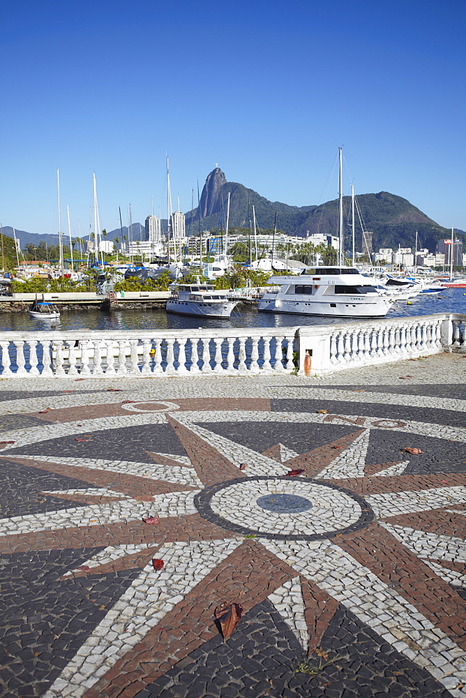
[[[230,193],[230,223],[229,228],[234,231],[238,228],[248,228],[253,218],[253,206],[257,227],[269,230],[273,227],[273,219],[277,216],[277,228],[289,235],[307,237],[315,233],[324,235],[336,235],[338,230],[338,199],[327,201],[320,205],[290,206],[279,201],[269,201],[253,189],[237,182],[227,181],[225,173],[220,168],[215,168],[206,178],[202,189],[200,205],[186,213],[186,231],[189,229],[193,235],[200,230],[218,230],[225,227],[227,198]],[[373,232],[373,249],[381,247],[414,248],[416,231],[419,235],[418,248],[426,247],[429,251],[435,251],[439,239],[449,237],[451,230],[444,228],[439,223],[429,218],[423,211],[412,205],[407,199],[387,191],[379,193],[361,194],[356,196],[356,246],[361,250],[361,231]],[[351,235],[351,200],[343,198],[345,211],[344,237],[345,248],[349,249]],[[167,221],[163,220],[162,230],[167,229]],[[466,242],[466,232],[456,230],[456,237]],[[13,228],[6,226],[3,233],[13,237]],[[123,235],[128,236],[128,228],[123,228]],[[144,225],[133,223],[133,239],[144,239]],[[26,244],[38,245],[41,240],[47,245],[57,244],[58,236],[39,235],[37,233],[16,230],[16,236],[20,239],[21,246]],[[87,239],[89,236],[85,236]],[[119,238],[122,242],[120,228],[107,233],[108,240]],[[66,235],[63,236],[66,244]]]

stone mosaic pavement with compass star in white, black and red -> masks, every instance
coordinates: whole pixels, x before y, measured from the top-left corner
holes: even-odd
[[[0,382],[0,696],[466,697],[461,359]]]

